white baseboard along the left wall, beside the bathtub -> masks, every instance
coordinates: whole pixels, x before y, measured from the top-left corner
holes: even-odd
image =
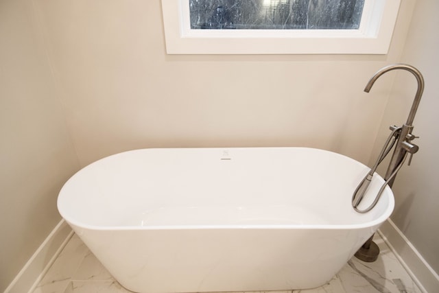
[[[72,235],[70,226],[61,220],[3,293],[32,292]]]

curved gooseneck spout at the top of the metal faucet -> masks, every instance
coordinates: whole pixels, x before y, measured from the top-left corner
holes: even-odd
[[[412,67],[411,65],[406,65],[406,64],[394,64],[394,65],[389,65],[387,67],[383,67],[382,69],[377,71],[377,73],[375,73],[375,75],[373,75],[372,78],[370,78],[368,84],[366,84],[366,87],[364,88],[364,91],[366,93],[368,93],[370,91],[370,89],[372,89],[372,85],[375,83],[375,81],[381,75],[383,75],[383,73],[386,73],[386,72],[394,70],[394,69],[407,70],[407,71],[413,73],[416,80],[418,81],[418,91],[416,91],[416,95],[414,97],[414,101],[412,104],[412,109],[410,110],[410,114],[409,114],[409,117],[407,118],[407,122],[406,122],[407,126],[412,126],[413,120],[414,120],[414,115],[416,115],[416,110],[418,110],[420,97],[423,95],[423,91],[424,91],[424,78],[423,78],[423,75],[420,73],[420,71],[418,71],[418,69]]]

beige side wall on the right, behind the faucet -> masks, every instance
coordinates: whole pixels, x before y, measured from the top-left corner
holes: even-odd
[[[414,143],[419,152],[412,164],[399,172],[394,186],[396,208],[392,220],[429,265],[439,273],[439,1],[416,2],[412,25],[401,62],[418,68],[425,78],[425,91],[414,119],[413,133],[420,138]],[[410,73],[386,73],[396,76],[392,95],[385,110],[378,152],[391,124],[401,125],[407,120],[416,93],[416,80]],[[372,89],[373,91],[373,89]]]

